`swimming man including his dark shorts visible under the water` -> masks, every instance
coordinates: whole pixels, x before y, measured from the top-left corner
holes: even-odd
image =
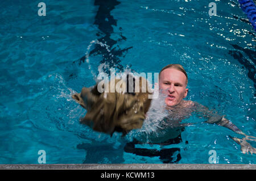
[[[217,113],[210,111],[207,107],[199,103],[192,102],[191,100],[183,100],[188,94],[187,83],[187,73],[185,72],[184,68],[179,64],[167,65],[159,73],[159,90],[160,92],[162,92],[162,94],[166,96],[164,102],[166,104],[166,109],[170,112],[170,117],[168,116],[168,119],[171,120],[170,123],[175,121],[176,123],[180,122],[181,120],[184,120],[185,118],[189,117],[192,112],[196,112],[198,113],[197,115],[201,115],[205,119],[207,119],[206,123],[221,125],[223,127],[231,129],[232,131],[238,134],[242,134],[243,136],[245,136],[245,138],[243,139],[230,137],[241,145],[242,153],[256,153],[256,149],[253,148],[248,142],[246,142],[246,140],[256,141],[252,139],[256,137],[247,136],[240,129],[238,129],[236,125],[234,125],[231,121],[226,119],[224,116],[220,116]],[[183,131],[183,128],[184,127],[180,127],[180,129],[168,129],[168,133],[171,139],[161,143],[155,142],[155,144],[168,144],[180,142],[180,133]],[[159,138],[155,138],[155,140],[158,139]],[[129,153],[135,153],[138,155],[147,155],[150,157],[154,155],[160,155],[160,158],[161,155],[163,158],[170,157],[170,155],[166,155],[166,153],[175,151],[169,149],[164,151],[148,150],[143,148],[137,149],[135,148],[135,144],[141,144],[141,141],[135,139],[133,142],[130,142],[125,146],[125,151]],[[177,159],[177,161],[179,161],[179,159]]]

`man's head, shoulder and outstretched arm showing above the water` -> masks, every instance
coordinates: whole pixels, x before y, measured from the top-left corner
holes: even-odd
[[[167,65],[160,71],[159,89],[163,92],[163,94],[167,95],[165,103],[168,110],[175,110],[176,113],[180,112],[181,115],[190,115],[191,112],[188,112],[188,110],[196,111],[203,114],[203,116],[208,119],[207,123],[214,123],[229,128],[238,134],[242,134],[246,138],[251,137],[243,133],[240,129],[236,127],[236,125],[234,125],[224,116],[218,116],[216,113],[209,111],[207,107],[199,103],[192,102],[191,100],[183,100],[183,98],[185,98],[188,94],[187,83],[187,73],[179,64]],[[256,153],[256,150],[253,147],[249,146],[249,144],[245,145],[245,142],[242,144],[242,142],[245,140],[238,141],[238,139],[236,138],[233,138],[233,140],[235,140],[242,146],[243,153],[248,153],[248,151],[250,151],[251,154]]]

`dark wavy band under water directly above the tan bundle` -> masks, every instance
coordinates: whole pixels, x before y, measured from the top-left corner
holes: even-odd
[[[90,51],[89,56],[96,56],[100,54],[102,56],[101,64],[106,66],[103,68],[105,73],[109,73],[110,68],[116,68],[119,71],[123,71],[123,65],[119,57],[125,56],[127,50],[133,48],[128,47],[125,49],[120,49],[117,45],[118,41],[126,40],[126,37],[122,35],[122,32],[119,32],[120,38],[118,40],[112,39],[110,36],[114,33],[113,26],[117,26],[117,19],[110,14],[112,10],[115,9],[115,6],[119,5],[120,2],[116,0],[95,0],[94,5],[99,6],[97,14],[95,16],[95,21],[93,24],[98,26],[98,31],[96,36],[97,44],[93,50]],[[122,31],[122,28],[119,27],[119,30]],[[103,45],[102,45],[103,44]],[[84,63],[86,60],[86,55],[82,56],[79,60],[79,65]],[[74,61],[73,63],[75,63]],[[130,65],[131,66],[131,65]]]

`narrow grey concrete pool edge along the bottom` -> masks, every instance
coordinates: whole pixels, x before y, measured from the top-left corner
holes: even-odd
[[[249,164],[0,164],[0,170],[256,170]]]

